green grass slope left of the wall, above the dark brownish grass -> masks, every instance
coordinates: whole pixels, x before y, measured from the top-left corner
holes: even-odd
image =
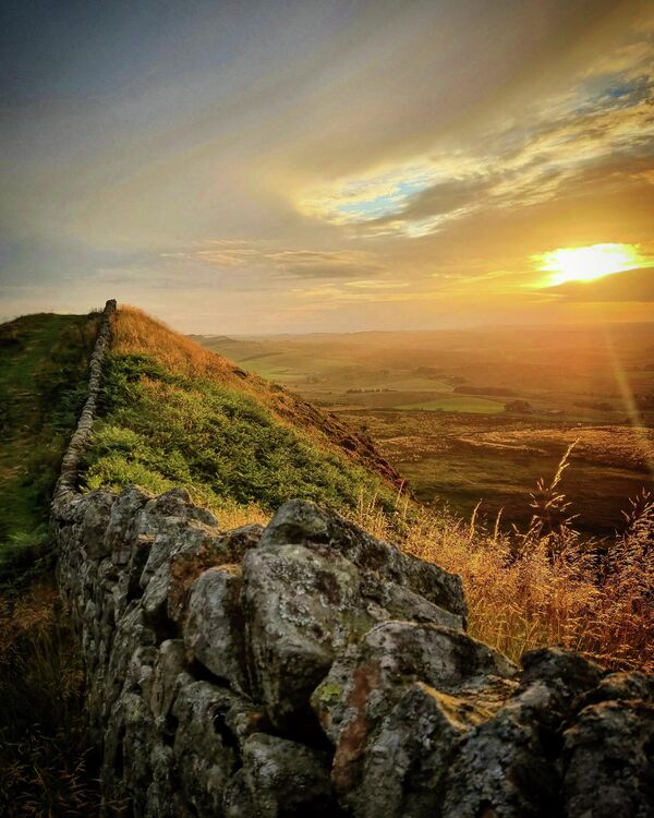
[[[49,503],[86,397],[95,315],[27,315],[0,327],[0,573],[48,542]]]

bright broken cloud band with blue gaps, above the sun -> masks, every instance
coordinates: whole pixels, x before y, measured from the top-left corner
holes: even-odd
[[[307,191],[299,208],[360,237],[414,238],[484,209],[524,208],[573,194],[582,181],[628,182],[608,173],[654,155],[654,76],[646,49],[632,45],[635,63],[591,70],[474,143]]]

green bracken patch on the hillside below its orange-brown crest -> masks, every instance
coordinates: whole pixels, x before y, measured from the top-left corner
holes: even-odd
[[[83,484],[131,483],[154,493],[181,485],[217,510],[274,510],[290,497],[335,508],[353,508],[362,495],[390,503],[379,478],[282,423],[256,397],[152,357],[112,352]]]

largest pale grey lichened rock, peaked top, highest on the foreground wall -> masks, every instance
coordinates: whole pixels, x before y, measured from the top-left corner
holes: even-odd
[[[255,693],[278,727],[305,719],[334,659],[376,623],[463,626],[458,578],[311,503],[282,506],[245,554],[243,578]]]

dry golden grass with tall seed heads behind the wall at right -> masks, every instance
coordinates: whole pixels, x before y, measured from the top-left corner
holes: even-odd
[[[396,521],[361,504],[355,522],[463,580],[470,633],[516,662],[561,646],[616,670],[654,671],[654,505],[634,504],[627,532],[582,542],[571,524],[487,531],[401,502]],[[400,525],[398,525],[398,521]]]

